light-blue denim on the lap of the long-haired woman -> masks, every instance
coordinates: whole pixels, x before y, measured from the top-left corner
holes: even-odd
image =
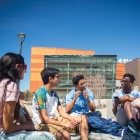
[[[0,140],[56,140],[50,132],[43,131],[19,131],[5,134],[0,131]]]

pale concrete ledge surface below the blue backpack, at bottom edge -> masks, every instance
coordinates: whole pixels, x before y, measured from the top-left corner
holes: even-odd
[[[80,140],[80,135],[71,133],[71,140]],[[121,137],[115,137],[110,134],[91,132],[88,136],[89,140],[121,140]]]

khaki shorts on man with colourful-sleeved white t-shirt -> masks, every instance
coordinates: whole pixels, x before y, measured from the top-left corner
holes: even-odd
[[[63,117],[57,117],[57,118],[55,118],[55,120],[57,120],[59,122],[64,122],[64,123],[69,122],[68,119],[65,119]],[[57,132],[59,132],[62,129],[68,131],[69,133],[76,133],[77,132],[77,128],[67,129],[67,128],[64,128],[62,126],[53,125],[53,124],[39,124],[35,127],[35,129],[38,131],[51,132],[55,135],[55,137],[56,137]]]

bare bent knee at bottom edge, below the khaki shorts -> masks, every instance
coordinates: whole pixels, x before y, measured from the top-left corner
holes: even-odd
[[[69,132],[63,129],[57,132],[56,138],[58,140],[71,140]]]

